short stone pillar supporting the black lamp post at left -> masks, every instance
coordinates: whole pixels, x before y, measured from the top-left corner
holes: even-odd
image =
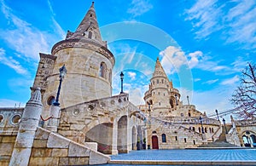
[[[51,116],[51,118],[49,119],[47,129],[49,129],[49,131],[57,132],[61,117],[61,107],[50,106],[49,116]]]

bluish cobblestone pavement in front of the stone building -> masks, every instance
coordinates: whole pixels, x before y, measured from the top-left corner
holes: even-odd
[[[256,161],[256,149],[144,150],[111,156],[111,160]]]

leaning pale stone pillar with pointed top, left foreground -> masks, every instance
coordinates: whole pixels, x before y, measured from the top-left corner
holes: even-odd
[[[9,165],[28,165],[41,112],[41,92],[37,88],[26,103]]]

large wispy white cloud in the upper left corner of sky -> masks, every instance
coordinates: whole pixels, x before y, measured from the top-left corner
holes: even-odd
[[[9,22],[9,29],[0,29],[0,37],[9,44],[9,47],[29,60],[38,60],[38,52],[48,53],[51,45],[57,41],[57,36],[40,31],[26,20],[21,20],[3,1],[1,3],[2,12]],[[57,34],[65,36],[61,26],[54,19],[53,25]]]

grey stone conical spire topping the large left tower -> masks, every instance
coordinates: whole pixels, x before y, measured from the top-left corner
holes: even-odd
[[[66,39],[74,38],[90,38],[96,42],[102,43],[101,32],[96,20],[94,2],[92,2],[90,9],[88,10],[87,14],[85,14],[84,19],[79,24],[77,30],[75,32],[67,31]]]

